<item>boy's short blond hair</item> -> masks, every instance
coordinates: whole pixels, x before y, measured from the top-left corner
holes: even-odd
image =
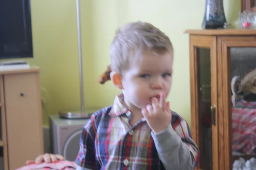
[[[122,73],[137,62],[145,50],[162,54],[172,50],[172,43],[160,29],[147,22],[130,22],[118,29],[111,45],[111,69]]]

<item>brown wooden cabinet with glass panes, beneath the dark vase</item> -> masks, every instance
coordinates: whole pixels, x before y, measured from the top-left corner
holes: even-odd
[[[196,169],[256,158],[256,30],[187,30]]]

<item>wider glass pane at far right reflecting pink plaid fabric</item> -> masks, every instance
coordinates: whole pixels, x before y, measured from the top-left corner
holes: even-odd
[[[233,161],[256,166],[256,48],[230,48],[230,62]]]

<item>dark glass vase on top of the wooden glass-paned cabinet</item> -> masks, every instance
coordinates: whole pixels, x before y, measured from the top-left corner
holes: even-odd
[[[223,28],[225,23],[227,23],[227,20],[224,13],[223,0],[206,0],[202,28]]]

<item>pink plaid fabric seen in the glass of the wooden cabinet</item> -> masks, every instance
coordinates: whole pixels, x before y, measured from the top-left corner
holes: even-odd
[[[256,102],[241,101],[232,107],[232,149],[255,153]]]

